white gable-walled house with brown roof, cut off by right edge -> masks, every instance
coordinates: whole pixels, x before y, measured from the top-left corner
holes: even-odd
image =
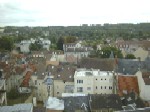
[[[145,101],[150,101],[150,72],[136,73],[138,77],[140,97]]]

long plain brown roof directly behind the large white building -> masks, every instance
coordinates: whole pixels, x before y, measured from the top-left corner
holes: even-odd
[[[100,69],[102,71],[113,71],[114,59],[83,58],[78,63],[79,68]]]

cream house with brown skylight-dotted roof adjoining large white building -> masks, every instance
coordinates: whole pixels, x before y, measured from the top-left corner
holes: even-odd
[[[74,72],[73,65],[48,65],[47,72],[53,77],[54,96],[61,97],[62,93],[74,92]]]

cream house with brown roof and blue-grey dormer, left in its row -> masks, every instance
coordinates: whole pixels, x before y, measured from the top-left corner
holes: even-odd
[[[39,64],[31,76],[31,88],[34,91],[38,101],[45,102],[48,96],[53,96],[53,80],[50,74],[46,72],[46,66]]]

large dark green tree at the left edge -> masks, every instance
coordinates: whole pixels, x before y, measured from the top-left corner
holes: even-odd
[[[10,37],[0,38],[0,49],[11,51],[13,49],[13,39]]]

